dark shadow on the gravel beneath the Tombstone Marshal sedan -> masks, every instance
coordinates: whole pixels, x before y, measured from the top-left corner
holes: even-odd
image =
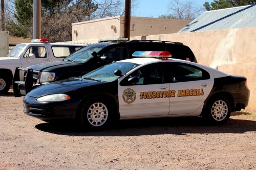
[[[256,131],[256,121],[229,118],[220,126],[206,125],[201,117],[173,117],[120,120],[111,128],[101,131],[82,129],[75,122],[51,122],[35,126],[40,131],[70,136],[140,136],[193,133],[245,133]]]

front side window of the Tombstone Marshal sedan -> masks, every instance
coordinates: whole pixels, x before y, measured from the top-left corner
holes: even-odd
[[[127,76],[127,80],[131,77],[139,79],[137,83],[132,83],[132,85],[161,84],[164,83],[163,75],[163,66],[156,63],[137,69],[130,76]]]

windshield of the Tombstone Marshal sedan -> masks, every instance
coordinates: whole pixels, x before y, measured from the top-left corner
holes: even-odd
[[[139,66],[139,64],[129,62],[114,62],[89,72],[88,74],[82,76],[82,79],[113,82],[119,78],[119,76],[114,74],[115,70],[119,69],[122,72],[122,75],[124,75],[126,72],[137,66]]]

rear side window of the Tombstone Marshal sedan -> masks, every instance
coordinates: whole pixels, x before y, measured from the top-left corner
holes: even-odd
[[[172,64],[171,82],[187,82],[209,79],[210,75],[207,71],[193,65],[182,63]]]

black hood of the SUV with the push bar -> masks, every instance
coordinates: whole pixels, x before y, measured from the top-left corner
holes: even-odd
[[[72,61],[54,61],[54,62],[32,65],[27,68],[28,69],[32,68],[33,70],[37,70],[37,71],[42,71],[42,70],[51,71],[58,67],[76,66],[76,65],[80,65],[80,64],[81,63],[79,63],[79,62],[72,62]],[[63,66],[63,65],[65,65],[65,66]]]

